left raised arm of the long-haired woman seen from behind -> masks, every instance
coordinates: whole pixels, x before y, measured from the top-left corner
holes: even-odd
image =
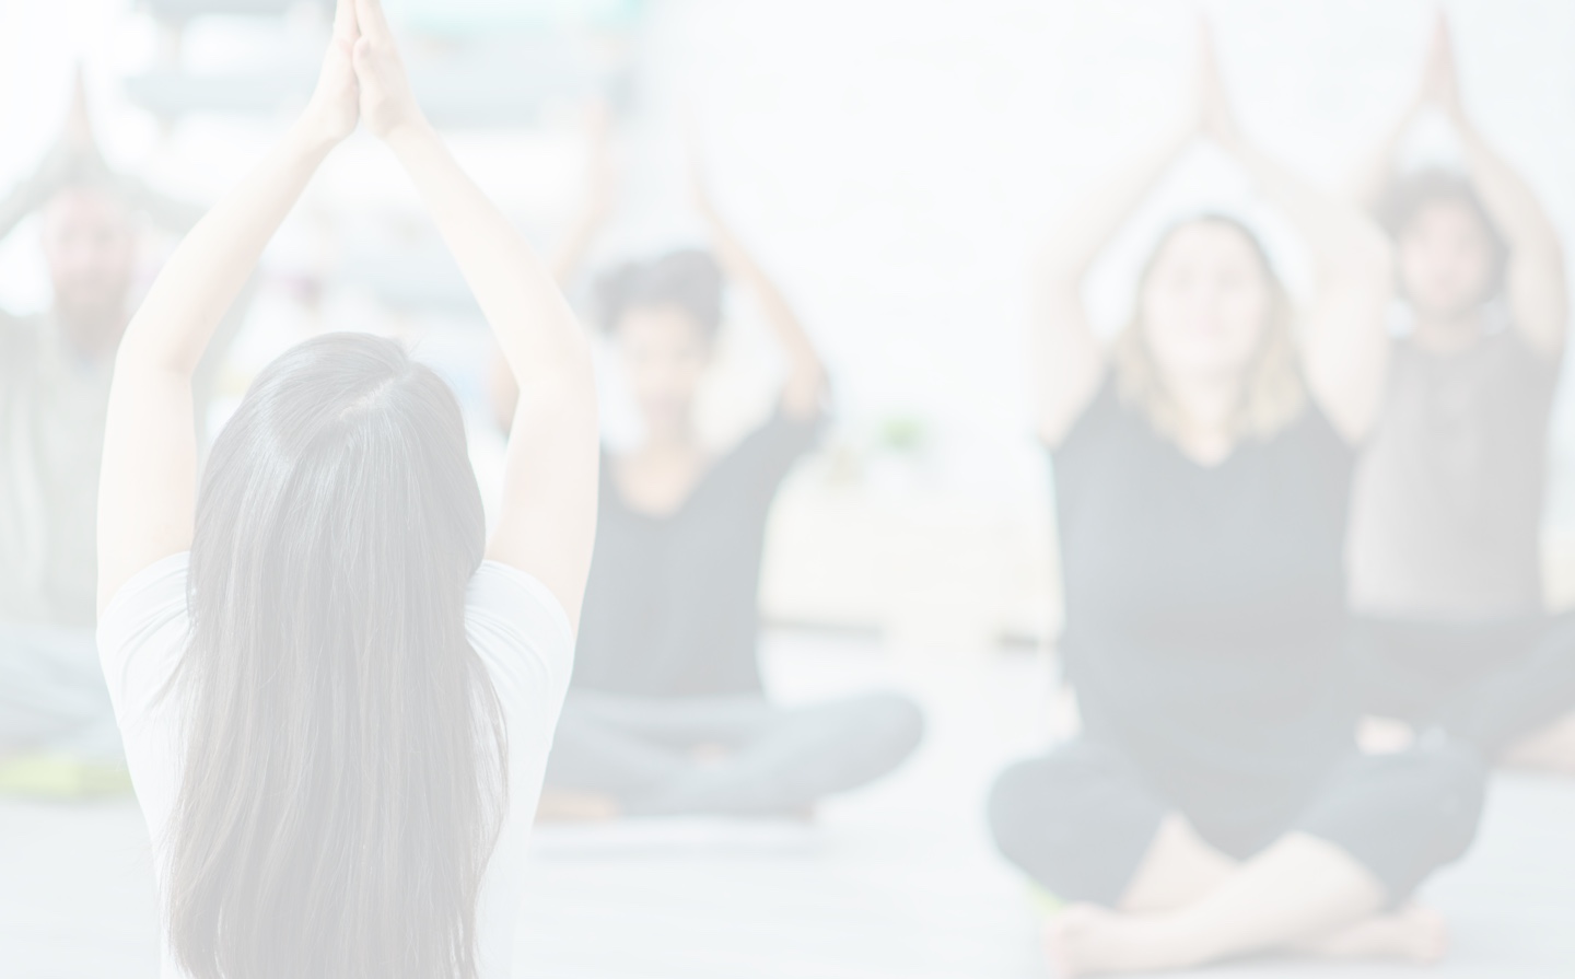
[[[285,140],[180,244],[115,357],[99,477],[99,611],[139,571],[191,548],[192,376],[307,181],[356,127],[353,0],[340,0],[317,93]]]

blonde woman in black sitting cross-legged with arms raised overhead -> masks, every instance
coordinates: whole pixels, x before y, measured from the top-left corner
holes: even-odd
[[[1199,135],[1290,219],[1317,293],[1293,321],[1241,222],[1186,220],[1107,351],[1084,277]],[[1389,261],[1356,208],[1241,139],[1206,36],[1194,118],[1058,227],[1035,337],[1082,732],[1010,768],[991,820],[1077,902],[1049,925],[1063,973],[1441,951],[1441,922],[1405,902],[1471,840],[1480,762],[1449,741],[1358,754],[1345,669],[1345,505],[1380,403]]]

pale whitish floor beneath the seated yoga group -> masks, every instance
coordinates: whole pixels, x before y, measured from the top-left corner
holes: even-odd
[[[994,773],[1043,738],[1035,656],[887,656],[776,637],[783,699],[895,683],[929,713],[926,746],[810,828],[712,822],[537,836],[517,974],[542,979],[1040,979],[1038,922],[992,852]],[[1575,785],[1501,778],[1471,856],[1425,899],[1454,927],[1436,970],[1243,963],[1232,979],[1575,976]],[[0,803],[0,976],[151,977],[148,844],[129,800]],[[1202,974],[1202,973],[1200,973]]]

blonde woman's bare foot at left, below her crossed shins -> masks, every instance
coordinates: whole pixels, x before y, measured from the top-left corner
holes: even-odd
[[[1085,903],[1051,918],[1044,949],[1057,979],[1184,968],[1203,960],[1166,916],[1123,914]]]

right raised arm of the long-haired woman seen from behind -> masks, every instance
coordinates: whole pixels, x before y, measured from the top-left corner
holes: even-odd
[[[580,619],[597,504],[591,349],[547,268],[422,116],[378,0],[358,0],[361,115],[427,201],[520,382],[487,557],[539,578]]]

